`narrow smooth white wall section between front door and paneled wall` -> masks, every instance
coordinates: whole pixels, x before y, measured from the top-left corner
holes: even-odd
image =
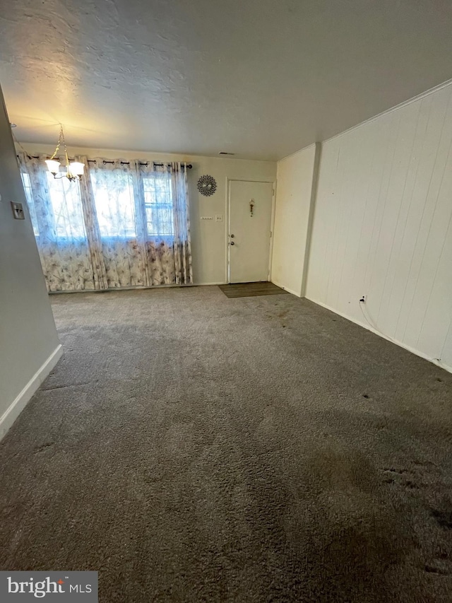
[[[316,145],[278,161],[271,280],[301,297],[313,203]]]

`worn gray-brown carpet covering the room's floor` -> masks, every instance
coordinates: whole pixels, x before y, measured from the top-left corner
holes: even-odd
[[[100,601],[450,602],[452,375],[292,295],[52,296],[0,569]]]

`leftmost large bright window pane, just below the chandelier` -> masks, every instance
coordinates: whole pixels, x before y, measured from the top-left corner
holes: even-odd
[[[80,187],[66,177],[55,179],[47,172],[57,239],[85,239]]]

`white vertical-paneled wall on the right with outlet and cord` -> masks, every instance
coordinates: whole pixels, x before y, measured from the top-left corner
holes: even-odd
[[[449,370],[451,144],[452,86],[326,141],[307,278],[307,298]]]

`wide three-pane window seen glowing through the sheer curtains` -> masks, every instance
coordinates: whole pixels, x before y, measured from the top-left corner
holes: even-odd
[[[89,177],[102,240],[133,241],[144,235],[148,240],[160,238],[172,244],[174,215],[169,173],[141,174],[137,181],[135,172],[100,169],[91,170]],[[86,240],[78,182],[70,182],[66,177],[55,179],[50,172],[40,172],[39,192],[33,196],[28,173],[22,174],[22,180],[36,237],[45,234],[46,239],[58,240],[63,245],[69,240]],[[143,201],[144,207],[140,208]]]

